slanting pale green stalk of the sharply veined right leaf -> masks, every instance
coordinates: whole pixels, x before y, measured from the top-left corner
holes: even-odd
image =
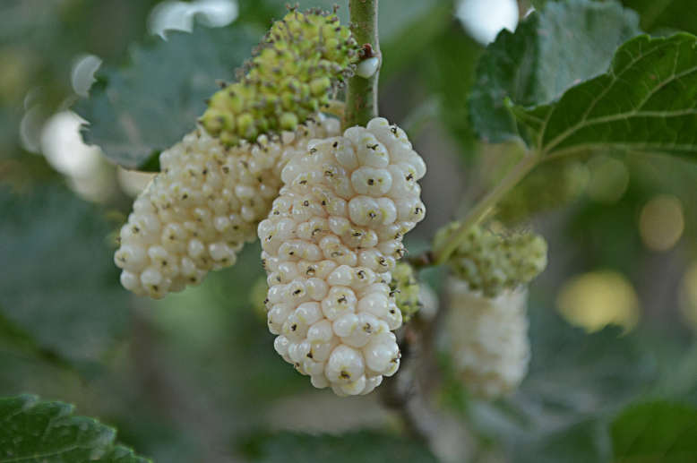
[[[498,201],[501,201],[503,196],[510,192],[532,170],[532,167],[538,164],[538,159],[537,152],[534,150],[527,151],[521,161],[512,168],[511,172],[499,184],[496,184],[494,189],[486,194],[484,199],[479,201],[474,209],[469,212],[451,238],[440,248],[433,250],[431,262],[434,265],[445,263],[462,241],[467,238],[469,228],[474,227],[480,220],[484,219],[494,209]]]

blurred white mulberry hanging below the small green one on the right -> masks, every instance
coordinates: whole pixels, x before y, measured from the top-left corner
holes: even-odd
[[[469,391],[498,399],[518,389],[528,373],[528,290],[507,289],[486,298],[452,281],[449,320],[453,366]]]

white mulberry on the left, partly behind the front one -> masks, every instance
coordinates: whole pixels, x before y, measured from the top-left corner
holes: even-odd
[[[162,172],[121,228],[115,262],[123,286],[159,299],[234,264],[271,210],[288,159],[310,139],[337,133],[339,121],[320,118],[281,141],[262,135],[254,146],[226,148],[199,129],[162,151]]]

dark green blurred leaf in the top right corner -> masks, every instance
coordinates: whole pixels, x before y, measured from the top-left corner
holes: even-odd
[[[694,0],[622,0],[641,15],[641,29],[670,28],[697,34],[697,2]]]

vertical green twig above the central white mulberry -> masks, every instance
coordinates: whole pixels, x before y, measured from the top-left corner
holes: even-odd
[[[351,32],[358,45],[363,47],[361,60],[377,57],[382,64],[380,45],[377,35],[377,2],[378,0],[349,0],[348,9],[351,13]],[[367,79],[354,75],[348,80],[346,96],[346,114],[344,128],[361,125],[377,117],[377,71]]]

